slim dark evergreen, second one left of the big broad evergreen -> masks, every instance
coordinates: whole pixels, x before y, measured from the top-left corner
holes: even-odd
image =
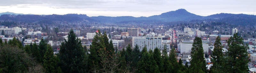
[[[40,52],[40,55],[41,55],[41,58],[43,59],[44,58],[44,53],[46,51],[46,48],[47,48],[47,42],[42,38],[41,41],[39,42],[39,52]],[[40,61],[40,62],[43,62]]]

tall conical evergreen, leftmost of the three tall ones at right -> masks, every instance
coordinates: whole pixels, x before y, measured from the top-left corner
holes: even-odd
[[[190,72],[196,72],[196,73],[204,73],[206,71],[206,63],[204,60],[204,50],[203,50],[203,44],[202,40],[199,37],[196,37],[192,48],[191,48],[191,56],[192,60],[190,61],[189,69],[193,70]]]

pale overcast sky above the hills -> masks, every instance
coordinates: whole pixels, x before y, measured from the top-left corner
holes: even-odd
[[[0,12],[87,16],[152,16],[186,9],[196,15],[216,13],[256,15],[255,0],[0,0]],[[254,13],[255,12],[255,13]]]

